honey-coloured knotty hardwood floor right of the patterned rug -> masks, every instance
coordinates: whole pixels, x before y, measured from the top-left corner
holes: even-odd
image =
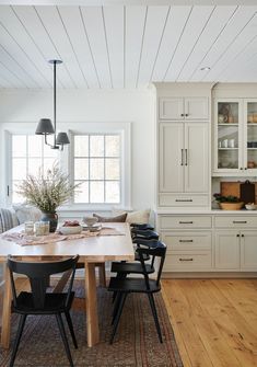
[[[164,279],[185,367],[257,366],[257,279]]]

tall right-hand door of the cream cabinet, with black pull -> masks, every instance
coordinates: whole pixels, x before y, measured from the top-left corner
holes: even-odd
[[[209,136],[206,123],[185,123],[185,192],[207,193]]]

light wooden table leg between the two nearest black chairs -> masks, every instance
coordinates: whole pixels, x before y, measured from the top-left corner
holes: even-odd
[[[87,345],[91,347],[100,341],[95,264],[85,262],[85,302]]]

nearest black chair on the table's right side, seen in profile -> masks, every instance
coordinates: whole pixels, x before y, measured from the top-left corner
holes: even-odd
[[[109,280],[108,290],[114,291],[117,294],[117,297],[115,299],[114,305],[114,313],[113,313],[113,332],[110,336],[109,343],[113,344],[118,323],[122,313],[124,305],[126,301],[126,298],[129,294],[147,294],[149,298],[149,302],[151,306],[152,314],[155,322],[155,328],[159,334],[159,340],[162,343],[162,333],[161,328],[157,319],[157,312],[156,307],[154,302],[153,294],[161,290],[161,275],[163,269],[163,264],[165,261],[166,255],[166,245],[161,242],[156,241],[155,245],[153,248],[137,248],[137,253],[140,257],[140,263],[143,269],[143,277],[126,277],[126,278],[119,278],[119,277],[112,277]],[[145,262],[143,260],[143,255],[148,254],[154,259],[160,259],[159,264],[159,271],[154,278],[149,278],[149,273],[147,271]]]

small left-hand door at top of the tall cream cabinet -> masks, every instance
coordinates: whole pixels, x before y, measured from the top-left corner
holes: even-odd
[[[161,119],[184,119],[184,99],[160,99],[159,114]]]

